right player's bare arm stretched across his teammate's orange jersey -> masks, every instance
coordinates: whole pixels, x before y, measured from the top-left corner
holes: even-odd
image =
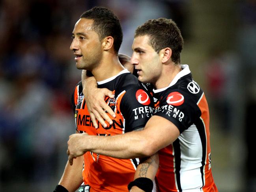
[[[133,131],[115,136],[91,136],[73,134],[69,137],[69,160],[86,151],[115,158],[149,157],[174,142],[179,136],[178,128],[160,116],[149,119],[144,130]],[[78,138],[80,137],[80,138]],[[80,149],[75,148],[79,142]]]

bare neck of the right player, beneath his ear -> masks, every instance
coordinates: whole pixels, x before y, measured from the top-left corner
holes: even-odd
[[[169,86],[169,84],[181,70],[180,64],[169,63],[168,65],[163,65],[163,70],[160,77],[155,83],[153,83],[155,89],[161,89]]]

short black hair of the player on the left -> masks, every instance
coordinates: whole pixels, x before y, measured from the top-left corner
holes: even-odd
[[[82,13],[80,18],[92,19],[93,30],[99,35],[99,39],[107,36],[114,38],[114,51],[118,54],[123,41],[123,32],[118,17],[106,7],[93,7]]]

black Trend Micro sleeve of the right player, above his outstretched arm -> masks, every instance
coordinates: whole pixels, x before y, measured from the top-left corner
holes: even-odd
[[[155,108],[154,115],[164,117],[174,123],[182,133],[200,116],[201,111],[191,95],[180,89],[166,91]]]

